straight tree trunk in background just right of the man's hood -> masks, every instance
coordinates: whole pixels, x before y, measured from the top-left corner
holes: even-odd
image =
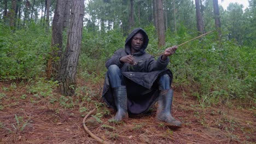
[[[162,0],[158,0],[156,2],[156,8],[158,10],[158,48],[165,45],[164,10],[162,7]]]

